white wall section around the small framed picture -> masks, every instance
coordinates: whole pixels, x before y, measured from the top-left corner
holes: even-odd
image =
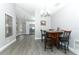
[[[41,20],[46,21],[46,26],[41,26]],[[40,10],[35,13],[35,39],[41,39],[41,29],[48,30],[51,28],[51,17],[42,18],[40,15]]]

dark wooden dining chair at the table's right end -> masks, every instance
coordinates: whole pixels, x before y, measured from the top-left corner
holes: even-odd
[[[64,48],[65,53],[69,50],[69,39],[70,39],[71,31],[64,31],[63,37],[59,37],[59,46]]]

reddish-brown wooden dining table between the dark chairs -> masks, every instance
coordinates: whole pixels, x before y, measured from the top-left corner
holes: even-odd
[[[58,47],[59,37],[61,36],[63,31],[47,31],[47,32],[49,33],[49,37],[51,37],[53,40],[53,42],[52,42],[53,45]]]

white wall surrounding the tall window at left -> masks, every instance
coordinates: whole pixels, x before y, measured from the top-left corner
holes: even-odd
[[[13,35],[5,38],[5,13],[13,17]],[[16,15],[14,4],[0,4],[0,48],[16,39]]]

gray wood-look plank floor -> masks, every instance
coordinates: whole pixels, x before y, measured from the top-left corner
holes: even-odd
[[[21,35],[17,36],[16,42],[11,44],[5,50],[0,52],[0,55],[74,55],[71,51],[67,54],[64,50],[53,48],[44,51],[44,43],[41,40],[35,40],[34,35]]]

